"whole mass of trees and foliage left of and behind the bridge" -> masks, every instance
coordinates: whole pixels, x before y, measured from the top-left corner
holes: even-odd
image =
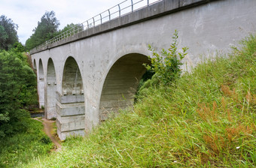
[[[58,30],[55,13],[47,11],[23,46],[17,35],[18,25],[5,15],[0,17],[0,138],[25,131],[28,110],[38,104],[36,74],[25,51],[73,26],[71,23]]]

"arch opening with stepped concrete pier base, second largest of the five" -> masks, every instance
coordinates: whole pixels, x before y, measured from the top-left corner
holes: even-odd
[[[66,60],[62,92],[57,93],[56,125],[59,139],[70,135],[84,136],[84,89],[81,71],[75,58]]]

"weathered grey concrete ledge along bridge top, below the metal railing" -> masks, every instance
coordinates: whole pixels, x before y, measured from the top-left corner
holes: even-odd
[[[162,17],[169,13],[174,13],[178,10],[184,10],[187,7],[194,7],[197,5],[206,4],[209,1],[216,0],[163,0],[159,1],[149,7],[144,7],[140,10],[135,10],[132,13],[128,13],[122,17],[118,17],[117,19],[110,20],[107,23],[103,23],[102,25],[89,28],[85,31],[81,31],[78,34],[74,34],[71,37],[66,37],[63,40],[59,40],[56,43],[49,44],[41,49],[32,49],[30,52],[36,53],[41,52],[45,49],[50,49],[56,46],[60,46],[66,43],[72,43],[76,40],[81,40],[87,37],[91,37],[94,35],[98,35],[101,33],[105,33],[106,31],[112,31],[117,28],[122,28],[125,26],[130,26],[136,23],[145,22],[145,20],[151,20],[156,17]]]

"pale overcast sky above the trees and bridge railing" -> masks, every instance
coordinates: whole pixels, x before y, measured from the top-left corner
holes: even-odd
[[[63,28],[70,23],[83,23],[122,1],[124,0],[0,0],[0,15],[5,15],[19,26],[19,40],[25,44],[45,11],[53,10],[60,23],[59,28]]]

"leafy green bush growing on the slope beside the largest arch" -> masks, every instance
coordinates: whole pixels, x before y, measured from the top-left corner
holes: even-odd
[[[153,73],[153,77],[149,80],[140,81],[138,92],[136,93],[136,100],[140,96],[148,94],[148,88],[159,85],[170,85],[175,82],[175,79],[181,76],[181,60],[187,55],[187,47],[182,48],[182,52],[178,52],[178,31],[172,36],[172,44],[168,51],[162,49],[158,53],[155,49],[148,45],[148,49],[152,52],[152,57],[148,56],[151,60],[151,65],[145,65],[147,71]]]

